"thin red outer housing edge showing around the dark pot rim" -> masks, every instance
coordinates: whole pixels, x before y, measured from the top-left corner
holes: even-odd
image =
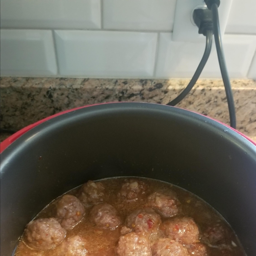
[[[79,107],[79,108],[73,108],[73,109],[70,109],[70,110],[62,111],[62,112],[57,113],[57,114],[52,115],[52,116],[48,116],[48,117],[46,117],[46,118],[44,118],[44,119],[42,119],[42,120],[40,120],[40,121],[38,121],[38,122],[35,122],[35,123],[31,124],[31,125],[28,125],[28,126],[22,128],[20,131],[17,131],[15,134],[12,134],[12,135],[11,135],[10,137],[8,137],[6,140],[4,140],[2,143],[0,143],[0,153],[2,153],[9,145],[11,145],[11,144],[12,144],[15,140],[17,140],[17,138],[19,138],[21,135],[23,135],[24,133],[26,133],[26,132],[29,131],[30,129],[34,128],[35,126],[40,125],[41,123],[48,121],[49,119],[52,119],[52,118],[54,118],[54,117],[56,117],[56,116],[60,116],[60,115],[62,115],[62,114],[68,113],[68,112],[75,111],[75,110],[77,110],[77,109],[87,108],[87,107],[96,106],[96,105],[102,105],[102,104],[109,104],[109,103],[119,103],[119,102],[100,103],[100,104],[86,105],[86,106]],[[190,111],[190,112],[193,112],[193,111]],[[196,113],[196,112],[194,112],[194,113]],[[197,114],[198,114],[198,113],[197,113]],[[201,115],[201,114],[199,114],[199,115]],[[202,115],[202,116],[203,116],[203,115]],[[226,124],[224,124],[224,123],[222,123],[222,122],[220,122],[220,121],[218,121],[218,120],[215,120],[215,119],[213,119],[213,118],[211,118],[211,117],[209,117],[209,116],[205,116],[205,117],[207,117],[207,118],[209,118],[209,119],[212,119],[212,120],[214,120],[214,121],[216,121],[216,122],[218,122],[218,123],[221,123],[222,125],[225,125],[225,126],[227,126],[228,128],[232,129],[233,131],[236,131],[238,134],[240,134],[241,136],[243,136],[245,139],[249,140],[251,143],[253,143],[253,145],[256,146],[256,143],[255,143],[253,140],[251,140],[250,138],[248,138],[247,136],[245,136],[245,135],[242,134],[241,132],[237,131],[236,129],[234,129],[234,128],[232,128],[232,127],[230,127],[230,126],[228,126],[228,125],[226,125]]]

